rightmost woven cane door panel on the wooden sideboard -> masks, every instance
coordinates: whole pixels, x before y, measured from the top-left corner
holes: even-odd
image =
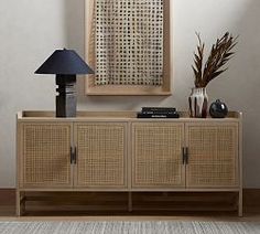
[[[238,127],[188,126],[188,187],[234,187],[238,182]]]

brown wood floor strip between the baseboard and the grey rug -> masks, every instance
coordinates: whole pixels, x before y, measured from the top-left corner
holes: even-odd
[[[15,216],[13,205],[0,205],[0,221],[230,221],[260,222],[260,206],[245,208],[243,217],[235,212],[133,212],[129,213],[32,213],[26,216]]]

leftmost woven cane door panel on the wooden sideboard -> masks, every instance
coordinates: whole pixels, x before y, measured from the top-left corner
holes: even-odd
[[[25,187],[71,185],[71,125],[23,126],[23,182]]]

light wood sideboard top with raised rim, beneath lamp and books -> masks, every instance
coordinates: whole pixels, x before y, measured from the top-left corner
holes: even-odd
[[[237,121],[241,119],[242,114],[238,111],[229,111],[226,118],[189,118],[187,111],[178,111],[180,118],[137,118],[137,111],[132,110],[115,110],[115,111],[77,111],[75,118],[56,118],[55,111],[19,111],[18,121],[26,120],[55,120],[55,121],[82,121],[82,120],[122,120],[122,121]]]

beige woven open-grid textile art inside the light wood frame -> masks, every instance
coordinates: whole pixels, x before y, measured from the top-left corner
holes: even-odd
[[[163,0],[95,0],[95,85],[161,86]]]

